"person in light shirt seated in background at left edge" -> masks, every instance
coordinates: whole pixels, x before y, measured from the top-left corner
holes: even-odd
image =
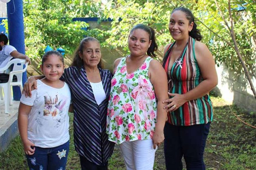
[[[31,64],[30,58],[22,53],[19,53],[15,47],[7,45],[8,38],[5,34],[0,34],[0,68],[7,65],[7,63],[14,57],[25,59],[28,64]]]

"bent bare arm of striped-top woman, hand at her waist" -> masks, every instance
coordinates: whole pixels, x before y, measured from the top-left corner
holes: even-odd
[[[169,93],[173,98],[165,100],[165,102],[170,102],[170,104],[166,106],[169,108],[168,111],[176,110],[178,107],[190,100],[201,98],[212,90],[218,83],[213,55],[204,43],[200,43],[199,41],[195,42],[195,56],[204,80],[197,87],[185,94]]]

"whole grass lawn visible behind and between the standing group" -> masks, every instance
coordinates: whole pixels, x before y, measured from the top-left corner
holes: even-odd
[[[220,98],[212,97],[214,120],[211,123],[204,161],[208,170],[253,170],[256,169],[256,129],[238,121],[232,111],[251,125],[256,125],[255,117],[243,113],[236,106],[228,106]],[[230,110],[232,109],[232,111]],[[80,169],[79,157],[74,150],[73,115],[70,115],[70,151],[67,170]],[[184,165],[185,168],[185,165]],[[0,170],[28,169],[20,136],[17,136],[8,149],[0,153]],[[109,160],[110,170],[124,170],[124,160],[116,146]],[[156,151],[155,170],[165,169],[163,145]]]

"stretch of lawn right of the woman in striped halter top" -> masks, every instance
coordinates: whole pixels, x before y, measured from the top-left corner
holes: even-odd
[[[255,126],[254,117],[244,113],[236,106],[226,105],[221,98],[211,99],[215,106],[215,115],[204,154],[206,162],[217,163],[219,167],[215,166],[215,169],[255,169],[256,129],[238,121],[232,112],[243,121]],[[206,166],[208,166],[207,163]]]

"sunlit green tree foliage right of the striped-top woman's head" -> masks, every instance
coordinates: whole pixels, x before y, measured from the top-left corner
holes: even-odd
[[[220,6],[220,11],[216,7],[213,0],[199,1],[194,5],[196,9],[194,14],[198,16],[200,22],[204,23],[208,28],[201,26],[204,42],[208,44],[210,51],[215,56],[215,61],[218,65],[226,64],[229,68],[234,70],[236,74],[241,74],[243,68],[234,50],[234,43],[231,38],[230,30],[230,16],[228,13],[228,2],[225,0],[217,0]],[[239,10],[243,7],[243,10]],[[231,1],[231,13],[234,21],[234,33],[239,50],[243,55],[243,60],[249,72],[255,77],[255,58],[256,58],[256,26],[255,26],[255,11],[256,4],[254,0]],[[202,13],[204,11],[204,13]],[[228,22],[226,26],[220,13]],[[228,28],[229,27],[229,28]],[[209,31],[212,30],[213,32]],[[221,38],[222,39],[221,39]],[[231,46],[228,43],[231,44]]]

